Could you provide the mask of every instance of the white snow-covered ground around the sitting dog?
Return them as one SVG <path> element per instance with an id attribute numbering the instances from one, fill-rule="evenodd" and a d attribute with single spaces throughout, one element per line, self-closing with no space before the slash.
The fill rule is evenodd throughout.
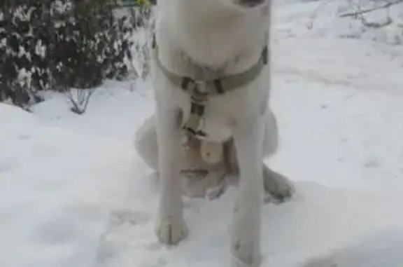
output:
<path id="1" fill-rule="evenodd" d="M 263 266 L 401 267 L 403 47 L 308 32 L 313 10 L 275 9 L 269 164 L 297 195 L 264 205 Z M 234 188 L 186 200 L 181 246 L 155 240 L 155 184 L 132 145 L 153 95 L 131 88 L 107 83 L 82 116 L 54 93 L 32 114 L 0 104 L 1 267 L 228 266 Z"/>

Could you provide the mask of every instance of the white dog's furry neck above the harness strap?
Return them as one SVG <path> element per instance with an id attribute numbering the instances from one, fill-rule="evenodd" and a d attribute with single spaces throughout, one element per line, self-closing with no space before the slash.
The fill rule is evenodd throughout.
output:
<path id="1" fill-rule="evenodd" d="M 211 1 L 159 4 L 156 32 L 162 64 L 201 79 L 238 73 L 255 64 L 267 44 L 269 8 L 240 12 L 203 3 Z"/>

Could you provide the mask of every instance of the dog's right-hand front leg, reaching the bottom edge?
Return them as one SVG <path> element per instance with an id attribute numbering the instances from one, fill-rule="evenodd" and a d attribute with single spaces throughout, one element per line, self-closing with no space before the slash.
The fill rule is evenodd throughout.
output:
<path id="1" fill-rule="evenodd" d="M 234 266 L 260 266 L 262 117 L 238 121 L 232 130 L 239 161 L 239 196 L 232 231 Z"/>

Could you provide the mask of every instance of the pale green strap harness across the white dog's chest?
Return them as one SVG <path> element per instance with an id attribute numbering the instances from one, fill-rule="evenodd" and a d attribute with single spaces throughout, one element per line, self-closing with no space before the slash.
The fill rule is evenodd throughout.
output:
<path id="1" fill-rule="evenodd" d="M 268 64 L 268 47 L 264 46 L 262 54 L 250 69 L 239 74 L 229 74 L 213 80 L 198 80 L 189 76 L 178 76 L 162 65 L 158 59 L 158 47 L 153 35 L 153 53 L 157 66 L 162 70 L 169 81 L 190 94 L 190 116 L 182 125 L 186 137 L 206 137 L 204 127 L 204 111 L 208 97 L 224 95 L 227 92 L 241 88 L 257 78 L 264 65 Z"/>

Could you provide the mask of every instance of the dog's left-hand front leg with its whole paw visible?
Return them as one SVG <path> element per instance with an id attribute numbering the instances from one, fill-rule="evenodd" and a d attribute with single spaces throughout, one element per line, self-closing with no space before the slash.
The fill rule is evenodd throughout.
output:
<path id="1" fill-rule="evenodd" d="M 157 100 L 158 101 L 158 100 Z M 160 242 L 176 245 L 188 234 L 181 195 L 181 129 L 179 111 L 157 103 L 157 143 L 160 169 L 160 203 L 156 235 Z"/>

